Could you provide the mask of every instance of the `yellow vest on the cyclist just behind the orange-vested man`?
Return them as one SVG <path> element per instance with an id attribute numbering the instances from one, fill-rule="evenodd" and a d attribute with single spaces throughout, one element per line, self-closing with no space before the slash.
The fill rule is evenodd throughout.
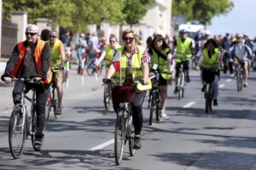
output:
<path id="1" fill-rule="evenodd" d="M 49 43 L 49 41 L 48 41 L 48 43 Z M 56 40 L 54 47 L 52 48 L 52 50 L 50 52 L 50 61 L 49 61 L 50 68 L 54 68 L 58 65 L 61 65 L 60 44 L 61 44 L 61 40 Z"/>

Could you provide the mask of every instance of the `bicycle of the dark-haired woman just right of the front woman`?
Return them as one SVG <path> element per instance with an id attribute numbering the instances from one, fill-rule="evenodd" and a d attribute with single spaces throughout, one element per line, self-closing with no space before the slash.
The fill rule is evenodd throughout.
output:
<path id="1" fill-rule="evenodd" d="M 149 122 L 148 125 L 152 125 L 153 122 L 153 113 L 155 111 L 155 119 L 156 122 L 160 122 L 160 108 L 161 108 L 161 98 L 160 98 L 160 86 L 159 86 L 159 78 L 160 78 L 160 71 L 157 69 L 153 69 L 154 76 L 149 77 L 153 82 L 153 88 L 149 91 L 149 99 L 148 99 L 148 106 L 150 108 L 149 113 Z M 172 72 L 164 72 L 165 74 L 171 74 Z"/>

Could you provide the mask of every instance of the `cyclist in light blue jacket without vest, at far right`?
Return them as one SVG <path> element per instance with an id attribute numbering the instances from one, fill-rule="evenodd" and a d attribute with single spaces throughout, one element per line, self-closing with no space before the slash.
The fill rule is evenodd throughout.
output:
<path id="1" fill-rule="evenodd" d="M 248 57 L 252 56 L 252 50 L 245 44 L 244 37 L 242 34 L 236 35 L 236 44 L 230 48 L 230 54 L 234 58 L 234 65 L 241 65 L 243 75 L 244 75 L 244 84 L 243 86 L 246 88 L 248 86 L 247 78 L 248 78 Z"/>

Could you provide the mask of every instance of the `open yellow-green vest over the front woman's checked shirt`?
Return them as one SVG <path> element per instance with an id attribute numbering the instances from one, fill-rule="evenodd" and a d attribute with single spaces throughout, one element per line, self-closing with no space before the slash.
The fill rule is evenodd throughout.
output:
<path id="1" fill-rule="evenodd" d="M 127 67 L 127 59 L 126 55 L 123 54 L 124 47 L 118 48 L 117 50 L 120 50 L 121 52 L 121 72 L 115 71 L 113 74 L 113 81 L 122 83 L 125 80 L 125 71 Z M 132 67 L 132 78 L 134 82 L 138 82 L 141 78 L 143 78 L 143 63 L 142 63 L 142 57 L 143 52 L 145 51 L 145 48 L 137 45 L 137 54 L 132 55 L 131 59 L 131 67 Z M 121 82 L 120 82 L 121 77 Z"/>

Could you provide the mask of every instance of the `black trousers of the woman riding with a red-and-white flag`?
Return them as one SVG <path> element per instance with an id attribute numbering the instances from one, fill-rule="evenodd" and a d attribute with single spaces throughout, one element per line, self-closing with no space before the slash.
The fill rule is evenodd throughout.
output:
<path id="1" fill-rule="evenodd" d="M 146 91 L 135 94 L 134 101 L 132 103 L 132 116 L 134 124 L 135 135 L 140 135 L 143 128 L 143 102 L 146 96 Z M 113 109 L 117 113 L 119 109 L 119 103 L 113 103 Z"/>

